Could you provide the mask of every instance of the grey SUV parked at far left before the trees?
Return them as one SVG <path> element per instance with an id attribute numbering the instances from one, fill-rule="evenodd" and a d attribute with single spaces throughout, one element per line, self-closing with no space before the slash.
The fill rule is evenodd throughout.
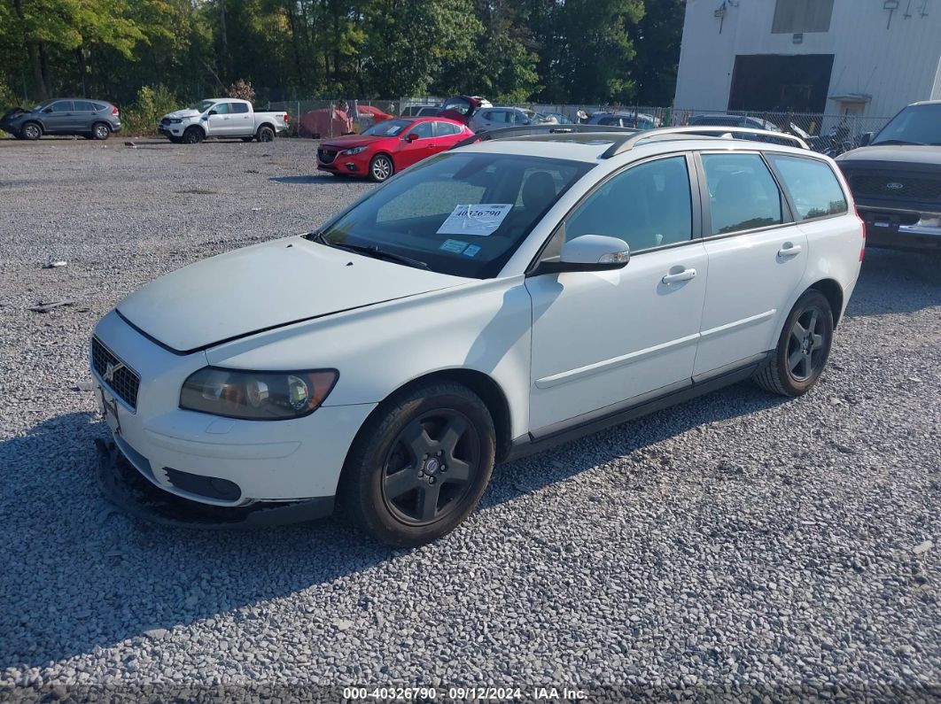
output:
<path id="1" fill-rule="evenodd" d="M 0 120 L 0 130 L 19 139 L 39 139 L 43 134 L 80 134 L 88 139 L 107 139 L 120 132 L 118 108 L 105 101 L 56 98 L 40 102 L 32 110 L 9 111 Z"/>

